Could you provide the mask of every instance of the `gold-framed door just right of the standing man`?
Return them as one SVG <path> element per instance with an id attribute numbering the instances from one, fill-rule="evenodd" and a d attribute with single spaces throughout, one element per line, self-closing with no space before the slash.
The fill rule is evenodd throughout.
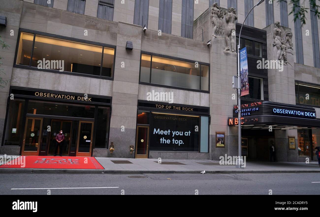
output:
<path id="1" fill-rule="evenodd" d="M 91 157 L 93 125 L 94 121 L 79 121 L 76 156 Z"/>

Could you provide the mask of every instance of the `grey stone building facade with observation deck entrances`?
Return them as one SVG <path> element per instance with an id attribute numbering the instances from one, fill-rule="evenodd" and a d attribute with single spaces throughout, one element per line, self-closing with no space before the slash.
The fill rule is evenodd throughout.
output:
<path id="1" fill-rule="evenodd" d="M 62 130 L 67 156 L 236 156 L 234 51 L 257 2 L 0 0 L 0 154 L 52 155 Z M 278 161 L 313 160 L 320 142 L 319 22 L 308 5 L 302 27 L 291 7 L 263 2 L 241 32 L 250 159 L 273 141 Z"/>

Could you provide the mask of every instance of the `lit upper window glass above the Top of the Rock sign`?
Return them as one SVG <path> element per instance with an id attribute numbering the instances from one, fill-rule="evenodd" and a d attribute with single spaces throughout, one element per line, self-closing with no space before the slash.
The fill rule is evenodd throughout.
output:
<path id="1" fill-rule="evenodd" d="M 140 82 L 208 91 L 209 66 L 142 54 Z"/>

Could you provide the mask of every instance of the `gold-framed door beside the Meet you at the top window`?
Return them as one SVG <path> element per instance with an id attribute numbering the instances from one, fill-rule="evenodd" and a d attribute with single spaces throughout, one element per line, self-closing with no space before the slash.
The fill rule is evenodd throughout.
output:
<path id="1" fill-rule="evenodd" d="M 149 126 L 137 126 L 135 158 L 148 158 Z"/>

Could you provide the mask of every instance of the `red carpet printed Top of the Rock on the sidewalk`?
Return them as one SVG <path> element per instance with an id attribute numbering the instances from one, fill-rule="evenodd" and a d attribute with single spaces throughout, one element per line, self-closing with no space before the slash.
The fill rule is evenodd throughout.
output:
<path id="1" fill-rule="evenodd" d="M 104 169 L 94 157 L 20 156 L 0 168 Z"/>

